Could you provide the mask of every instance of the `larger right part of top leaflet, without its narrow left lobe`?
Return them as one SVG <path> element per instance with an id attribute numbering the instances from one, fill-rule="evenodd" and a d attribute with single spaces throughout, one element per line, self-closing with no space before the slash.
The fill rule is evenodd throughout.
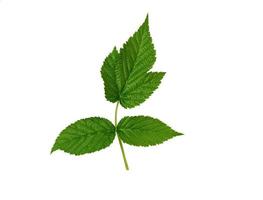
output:
<path id="1" fill-rule="evenodd" d="M 120 49 L 115 68 L 120 104 L 133 108 L 144 102 L 158 87 L 164 73 L 147 73 L 156 60 L 149 31 L 148 15 L 137 32 Z M 143 84 L 143 89 L 141 89 Z"/>

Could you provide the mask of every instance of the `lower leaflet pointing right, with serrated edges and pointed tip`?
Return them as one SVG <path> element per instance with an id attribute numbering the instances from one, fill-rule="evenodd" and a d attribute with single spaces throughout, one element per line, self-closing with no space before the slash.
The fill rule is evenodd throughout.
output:
<path id="1" fill-rule="evenodd" d="M 157 145 L 183 135 L 160 120 L 148 116 L 124 117 L 117 126 L 117 133 L 123 142 L 135 146 Z"/>

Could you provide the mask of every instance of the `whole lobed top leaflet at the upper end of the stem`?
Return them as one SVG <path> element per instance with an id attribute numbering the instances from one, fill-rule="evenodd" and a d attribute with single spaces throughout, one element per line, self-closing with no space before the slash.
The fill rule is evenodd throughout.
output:
<path id="1" fill-rule="evenodd" d="M 119 101 L 124 108 L 143 103 L 157 89 L 165 74 L 148 72 L 156 60 L 155 55 L 147 16 L 120 52 L 114 48 L 104 61 L 101 75 L 106 99 L 113 103 Z"/>

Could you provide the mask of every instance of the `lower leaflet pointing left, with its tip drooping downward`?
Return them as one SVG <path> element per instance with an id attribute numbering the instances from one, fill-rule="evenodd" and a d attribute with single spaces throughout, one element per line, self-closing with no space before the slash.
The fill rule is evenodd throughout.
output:
<path id="1" fill-rule="evenodd" d="M 60 149 L 70 154 L 81 155 L 109 146 L 115 137 L 114 125 L 105 118 L 81 119 L 65 128 L 51 150 Z"/>

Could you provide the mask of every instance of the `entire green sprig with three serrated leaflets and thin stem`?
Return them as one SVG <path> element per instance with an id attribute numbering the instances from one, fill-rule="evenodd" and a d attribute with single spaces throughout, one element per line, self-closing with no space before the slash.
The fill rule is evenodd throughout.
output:
<path id="1" fill-rule="evenodd" d="M 92 153 L 108 147 L 117 134 L 128 170 L 122 141 L 135 146 L 151 146 L 182 135 L 152 117 L 124 117 L 119 123 L 117 121 L 119 103 L 124 108 L 138 106 L 160 85 L 165 73 L 150 72 L 155 60 L 156 53 L 147 16 L 138 31 L 119 51 L 114 47 L 101 68 L 105 97 L 116 103 L 115 125 L 100 117 L 78 120 L 60 133 L 51 152 L 63 150 L 74 155 Z"/>

